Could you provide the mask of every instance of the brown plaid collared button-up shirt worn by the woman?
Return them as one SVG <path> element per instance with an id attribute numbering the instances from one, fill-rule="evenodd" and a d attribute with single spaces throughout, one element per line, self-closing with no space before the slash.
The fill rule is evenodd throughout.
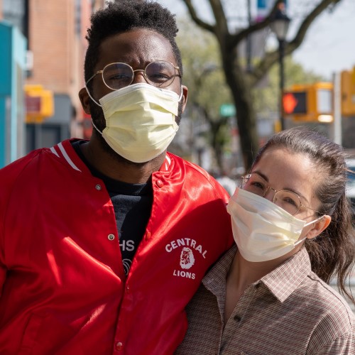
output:
<path id="1" fill-rule="evenodd" d="M 249 285 L 224 324 L 227 251 L 187 306 L 189 328 L 176 354 L 355 354 L 355 316 L 312 273 L 305 248 Z"/>

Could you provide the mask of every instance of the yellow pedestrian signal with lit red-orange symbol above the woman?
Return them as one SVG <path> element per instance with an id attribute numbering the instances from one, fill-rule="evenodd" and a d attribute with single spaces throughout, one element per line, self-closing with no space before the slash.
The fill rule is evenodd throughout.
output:
<path id="1" fill-rule="evenodd" d="M 283 113 L 293 121 L 332 122 L 333 84 L 293 85 L 283 94 Z"/>

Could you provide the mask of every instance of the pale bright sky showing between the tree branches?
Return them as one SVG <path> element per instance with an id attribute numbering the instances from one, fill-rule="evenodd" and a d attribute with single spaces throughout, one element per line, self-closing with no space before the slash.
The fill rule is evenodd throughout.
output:
<path id="1" fill-rule="evenodd" d="M 239 6 L 241 21 L 246 21 L 247 0 L 225 0 L 229 6 Z M 297 26 L 300 23 L 300 7 L 296 9 L 295 3 L 315 4 L 320 0 L 288 0 L 288 16 L 292 19 L 288 40 L 292 39 Z M 184 16 L 185 4 L 182 0 L 158 0 L 173 13 Z M 255 0 L 251 1 L 255 4 Z M 195 0 L 195 4 L 197 1 Z M 205 20 L 211 20 L 209 4 L 207 0 L 199 0 L 201 16 Z M 229 11 L 227 11 L 227 14 Z M 294 18 L 293 18 L 294 16 Z M 355 0 L 342 0 L 341 3 L 330 13 L 324 11 L 318 16 L 307 32 L 307 36 L 300 48 L 293 53 L 293 59 L 299 62 L 306 70 L 322 75 L 331 80 L 335 72 L 351 70 L 355 67 Z"/>

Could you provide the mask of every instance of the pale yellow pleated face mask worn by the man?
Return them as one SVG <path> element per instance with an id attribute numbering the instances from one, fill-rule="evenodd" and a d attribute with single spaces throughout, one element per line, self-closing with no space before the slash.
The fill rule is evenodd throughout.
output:
<path id="1" fill-rule="evenodd" d="M 163 153 L 173 141 L 179 128 L 175 117 L 181 97 L 182 90 L 179 97 L 149 84 L 132 84 L 99 100 L 105 129 L 99 131 L 92 124 L 117 154 L 144 163 Z"/>

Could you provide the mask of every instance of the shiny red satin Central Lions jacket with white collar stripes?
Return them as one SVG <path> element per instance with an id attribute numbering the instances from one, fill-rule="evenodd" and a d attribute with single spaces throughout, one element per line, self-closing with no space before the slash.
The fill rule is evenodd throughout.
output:
<path id="1" fill-rule="evenodd" d="M 167 154 L 127 277 L 108 192 L 69 140 L 0 182 L 0 354 L 173 353 L 185 305 L 233 241 L 213 178 Z"/>

